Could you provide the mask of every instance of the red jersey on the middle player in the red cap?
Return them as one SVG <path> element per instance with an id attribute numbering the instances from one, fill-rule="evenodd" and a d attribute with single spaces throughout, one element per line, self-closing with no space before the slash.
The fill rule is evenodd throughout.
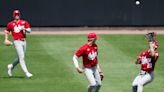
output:
<path id="1" fill-rule="evenodd" d="M 89 46 L 88 44 L 84 44 L 79 50 L 76 51 L 75 55 L 77 57 L 82 56 L 83 58 L 83 66 L 84 67 L 94 67 L 97 65 L 97 45 L 93 44 Z"/>

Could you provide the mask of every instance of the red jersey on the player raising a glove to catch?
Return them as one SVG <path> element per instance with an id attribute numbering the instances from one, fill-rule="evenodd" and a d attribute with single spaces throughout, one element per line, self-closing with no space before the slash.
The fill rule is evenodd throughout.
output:
<path id="1" fill-rule="evenodd" d="M 139 55 L 139 60 L 141 64 L 141 70 L 151 72 L 154 71 L 155 68 L 155 63 L 159 57 L 159 53 L 155 52 L 157 55 L 157 58 L 155 59 L 154 57 L 151 56 L 150 52 L 148 50 L 144 50 L 140 53 Z"/>

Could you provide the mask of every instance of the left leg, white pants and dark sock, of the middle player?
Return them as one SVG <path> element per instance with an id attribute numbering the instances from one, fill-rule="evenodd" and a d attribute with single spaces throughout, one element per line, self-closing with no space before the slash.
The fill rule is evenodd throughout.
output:
<path id="1" fill-rule="evenodd" d="M 93 71 L 91 68 L 85 68 L 85 76 L 89 82 L 88 92 L 95 92 L 96 90 L 96 80 L 93 76 Z"/>

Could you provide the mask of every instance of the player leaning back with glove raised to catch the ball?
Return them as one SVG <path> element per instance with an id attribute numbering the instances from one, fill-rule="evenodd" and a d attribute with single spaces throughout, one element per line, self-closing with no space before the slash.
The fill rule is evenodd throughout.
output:
<path id="1" fill-rule="evenodd" d="M 156 51 L 158 41 L 155 40 L 154 32 L 148 33 L 146 37 L 149 40 L 149 49 L 142 51 L 136 60 L 136 64 L 141 64 L 141 71 L 132 83 L 133 92 L 143 92 L 143 86 L 154 79 L 153 71 L 159 57 L 159 53 Z"/>

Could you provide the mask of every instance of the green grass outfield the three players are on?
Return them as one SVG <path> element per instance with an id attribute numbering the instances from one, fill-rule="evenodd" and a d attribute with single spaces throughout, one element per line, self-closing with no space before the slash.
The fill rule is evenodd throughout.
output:
<path id="1" fill-rule="evenodd" d="M 144 92 L 164 91 L 164 35 L 158 35 L 160 58 L 155 80 Z M 24 76 L 18 65 L 13 77 L 7 75 L 7 64 L 16 57 L 14 46 L 7 47 L 0 35 L 0 92 L 86 92 L 87 80 L 78 74 L 72 56 L 86 42 L 86 35 L 28 35 L 26 63 L 34 77 Z M 148 48 L 143 35 L 101 35 L 99 63 L 105 79 L 101 92 L 131 92 L 131 83 L 140 66 L 136 56 Z M 81 63 L 81 60 L 80 60 Z"/>

